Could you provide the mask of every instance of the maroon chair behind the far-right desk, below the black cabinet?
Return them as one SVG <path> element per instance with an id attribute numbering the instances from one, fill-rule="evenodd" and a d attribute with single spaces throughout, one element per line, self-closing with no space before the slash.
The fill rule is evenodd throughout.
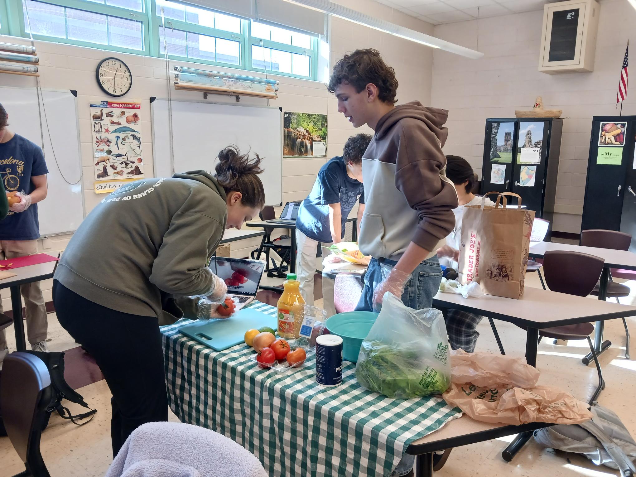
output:
<path id="1" fill-rule="evenodd" d="M 583 230 L 581 231 L 581 245 L 584 247 L 597 247 L 599 249 L 612 250 L 628 250 L 632 244 L 632 235 L 624 232 L 616 232 L 616 230 Z M 636 280 L 636 271 L 634 270 L 618 270 L 612 268 L 609 275 L 610 282 L 607 284 L 607 298 L 614 298 L 616 303 L 620 303 L 619 298 L 630 296 L 630 287 L 621 283 L 612 282 L 612 277 L 627 280 Z M 594 287 L 591 294 L 598 296 L 598 287 Z M 630 329 L 627 321 L 623 318 L 623 326 L 625 326 L 625 358 L 630 359 Z"/>

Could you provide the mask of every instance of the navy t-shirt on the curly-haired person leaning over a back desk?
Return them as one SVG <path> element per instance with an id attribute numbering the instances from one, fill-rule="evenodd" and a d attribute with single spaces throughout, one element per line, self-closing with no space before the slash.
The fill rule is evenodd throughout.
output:
<path id="1" fill-rule="evenodd" d="M 298 210 L 296 228 L 310 239 L 331 242 L 329 231 L 329 205 L 340 202 L 342 212 L 342 237 L 345 236 L 345 221 L 360 198 L 364 204 L 364 187 L 347 174 L 347 165 L 342 156 L 337 156 L 321 167 L 309 196 Z M 341 238 L 342 238 L 341 237 Z"/>

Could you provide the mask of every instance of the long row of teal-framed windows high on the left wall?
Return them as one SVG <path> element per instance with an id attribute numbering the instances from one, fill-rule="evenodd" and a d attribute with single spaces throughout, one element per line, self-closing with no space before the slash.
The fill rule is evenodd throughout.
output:
<path id="1" fill-rule="evenodd" d="M 317 69 L 314 36 L 174 0 L 0 0 L 0 34 L 305 79 Z"/>

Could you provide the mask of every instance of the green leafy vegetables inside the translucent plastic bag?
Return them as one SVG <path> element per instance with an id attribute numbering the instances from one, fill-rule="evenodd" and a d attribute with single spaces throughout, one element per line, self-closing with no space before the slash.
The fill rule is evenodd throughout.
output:
<path id="1" fill-rule="evenodd" d="M 450 376 L 423 362 L 413 350 L 364 341 L 361 352 L 356 378 L 370 391 L 408 399 L 441 394 L 450 386 Z"/>

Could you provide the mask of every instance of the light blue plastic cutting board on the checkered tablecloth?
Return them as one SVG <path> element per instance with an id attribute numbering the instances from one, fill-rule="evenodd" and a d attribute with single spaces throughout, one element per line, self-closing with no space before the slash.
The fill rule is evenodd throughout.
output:
<path id="1" fill-rule="evenodd" d="M 179 328 L 179 331 L 215 351 L 223 351 L 245 341 L 245 331 L 269 326 L 278 329 L 278 320 L 272 315 L 243 308 L 230 318 L 195 321 Z"/>

